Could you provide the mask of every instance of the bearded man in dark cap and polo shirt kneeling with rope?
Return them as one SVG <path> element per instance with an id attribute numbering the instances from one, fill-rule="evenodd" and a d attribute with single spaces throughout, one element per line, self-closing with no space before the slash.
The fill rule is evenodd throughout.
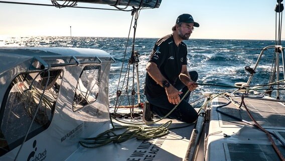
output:
<path id="1" fill-rule="evenodd" d="M 183 122 L 195 122 L 198 115 L 188 103 L 190 92 L 197 88 L 198 73 L 187 70 L 187 47 L 183 40 L 188 40 L 194 27 L 199 27 L 189 14 L 180 15 L 173 33 L 159 39 L 147 64 L 145 94 L 149 104 L 144 107 L 145 122 L 153 121 L 152 112 L 160 117 L 166 116 L 180 101 L 177 108 L 168 116 Z"/>

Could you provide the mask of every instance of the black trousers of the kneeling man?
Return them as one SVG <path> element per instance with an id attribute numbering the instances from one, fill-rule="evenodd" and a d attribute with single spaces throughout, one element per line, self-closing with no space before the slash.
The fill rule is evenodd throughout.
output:
<path id="1" fill-rule="evenodd" d="M 198 79 L 198 73 L 197 71 L 189 71 L 189 75 L 192 79 L 192 81 L 196 82 Z M 184 94 L 188 91 L 187 86 L 185 86 L 180 79 L 177 81 L 177 83 L 174 85 L 174 87 L 182 91 L 183 94 L 181 94 L 180 98 L 184 96 Z M 188 103 L 190 98 L 190 93 L 180 102 L 180 104 L 177 106 L 177 108 L 167 117 L 170 119 L 177 119 L 186 123 L 192 123 L 195 122 L 198 114 L 196 110 Z M 160 117 L 166 116 L 176 105 L 171 104 L 168 101 L 167 95 L 162 95 L 157 98 L 150 98 L 148 96 L 147 100 L 151 104 L 151 110 L 153 113 L 156 113 Z"/>

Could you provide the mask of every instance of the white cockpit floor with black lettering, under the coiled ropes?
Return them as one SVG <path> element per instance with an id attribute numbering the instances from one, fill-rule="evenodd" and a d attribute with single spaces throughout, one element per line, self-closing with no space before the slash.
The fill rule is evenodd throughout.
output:
<path id="1" fill-rule="evenodd" d="M 118 110 L 118 113 L 125 112 L 129 112 L 129 110 Z M 125 118 L 120 120 L 131 121 L 131 119 Z M 162 121 L 149 126 L 160 126 L 169 120 L 170 119 L 163 119 Z M 113 121 L 115 125 L 123 124 L 115 120 Z M 142 119 L 135 121 L 142 123 Z M 172 120 L 172 124 L 169 128 L 181 127 L 185 125 L 189 124 Z M 171 129 L 168 135 L 147 141 L 132 138 L 122 143 L 110 143 L 98 148 L 84 148 L 81 146 L 67 160 L 184 160 L 193 127 L 194 125 L 184 128 Z M 94 136 L 105 130 L 107 130 L 107 128 L 97 131 Z"/>

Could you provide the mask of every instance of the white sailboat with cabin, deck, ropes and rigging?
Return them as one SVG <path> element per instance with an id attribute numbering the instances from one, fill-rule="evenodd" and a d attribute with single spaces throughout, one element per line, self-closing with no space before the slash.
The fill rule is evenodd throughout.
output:
<path id="1" fill-rule="evenodd" d="M 281 2 L 275 8 L 279 16 Z M 76 8 L 77 3 L 132 7 L 135 15 L 163 2 L 78 0 L 44 6 Z M 281 28 L 280 21 L 276 26 Z M 284 160 L 280 32 L 274 45 L 262 49 L 255 66 L 245 67 L 247 82 L 236 83 L 232 93 L 203 93 L 195 124 L 168 118 L 145 123 L 139 90 L 132 92 L 137 100 L 126 106 L 120 105 L 118 90 L 116 106 L 110 108 L 109 72 L 115 60 L 103 50 L 1 47 L 0 160 Z M 251 85 L 267 49 L 275 56 L 269 83 Z M 137 56 L 132 49 L 133 69 Z"/>

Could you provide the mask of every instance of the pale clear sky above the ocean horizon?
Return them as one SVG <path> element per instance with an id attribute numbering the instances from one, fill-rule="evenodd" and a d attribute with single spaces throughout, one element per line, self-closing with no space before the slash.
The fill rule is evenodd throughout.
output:
<path id="1" fill-rule="evenodd" d="M 49 0 L 18 2 L 51 4 Z M 158 9 L 140 11 L 136 37 L 170 34 L 177 17 L 188 13 L 200 24 L 190 37 L 193 39 L 275 40 L 276 4 L 276 0 L 162 0 Z M 85 3 L 78 6 L 114 9 Z M 70 36 L 70 26 L 72 36 L 127 37 L 131 18 L 130 12 L 123 11 L 0 3 L 0 38 Z M 285 40 L 285 34 L 281 38 Z"/>

